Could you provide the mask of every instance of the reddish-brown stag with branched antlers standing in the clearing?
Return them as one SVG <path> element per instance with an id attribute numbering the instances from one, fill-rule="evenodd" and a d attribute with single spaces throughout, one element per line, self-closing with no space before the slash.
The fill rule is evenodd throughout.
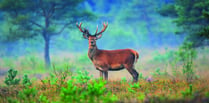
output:
<path id="1" fill-rule="evenodd" d="M 91 35 L 87 29 L 82 29 L 80 23 L 76 23 L 79 30 L 83 33 L 83 37 L 89 40 L 88 57 L 93 62 L 97 70 L 100 71 L 100 77 L 108 79 L 108 70 L 117 71 L 126 68 L 133 76 L 133 82 L 138 81 L 138 72 L 134 69 L 134 63 L 139 58 L 139 54 L 132 49 L 119 49 L 119 50 L 101 50 L 96 46 L 96 40 L 102 37 L 102 33 L 106 30 L 108 23 L 103 23 L 104 28 L 97 33 Z"/>

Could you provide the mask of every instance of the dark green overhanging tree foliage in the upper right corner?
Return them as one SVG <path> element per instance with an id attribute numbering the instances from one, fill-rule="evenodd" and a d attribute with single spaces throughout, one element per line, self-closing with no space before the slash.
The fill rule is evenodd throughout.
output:
<path id="1" fill-rule="evenodd" d="M 166 4 L 167 5 L 167 4 Z M 175 23 L 182 27 L 181 34 L 187 34 L 186 41 L 193 46 L 208 45 L 209 40 L 209 1 L 208 0 L 175 0 L 175 3 L 164 6 L 159 13 L 163 16 L 175 15 Z"/>

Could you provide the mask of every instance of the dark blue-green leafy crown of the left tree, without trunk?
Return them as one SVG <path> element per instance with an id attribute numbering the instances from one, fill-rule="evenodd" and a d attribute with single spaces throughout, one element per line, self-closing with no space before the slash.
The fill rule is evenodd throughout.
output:
<path id="1" fill-rule="evenodd" d="M 49 19 L 52 21 L 56 21 L 56 22 L 48 21 L 50 22 L 50 24 L 46 26 L 46 31 L 47 33 L 49 33 L 48 35 L 53 35 L 53 32 L 57 31 L 55 27 L 57 27 L 57 25 L 60 25 L 58 21 L 62 22 L 63 19 L 66 19 L 67 21 L 72 21 L 72 19 L 77 19 L 74 16 L 87 16 L 88 17 L 91 15 L 91 14 L 87 14 L 88 11 L 82 10 L 83 8 L 79 7 L 79 5 L 83 2 L 83 0 L 76 0 L 76 1 L 75 0 L 65 0 L 65 1 L 16 0 L 15 3 L 12 3 L 12 2 L 14 1 L 2 0 L 0 2 L 1 4 L 0 9 L 4 11 L 5 14 L 7 14 L 6 15 L 7 18 L 9 18 L 9 21 L 12 21 L 11 23 L 16 28 L 21 28 L 26 31 L 33 30 L 34 33 L 39 32 L 40 30 L 43 30 L 42 27 L 44 27 L 44 25 L 41 23 L 43 21 L 42 19 L 47 19 L 47 20 Z M 71 6 L 68 7 L 66 5 L 71 5 Z M 38 12 L 38 11 L 41 11 L 41 12 Z M 37 15 L 33 15 L 33 13 Z M 18 25 L 22 27 L 19 27 Z M 17 29 L 17 30 L 21 30 L 21 29 Z M 26 33 L 26 34 L 30 35 L 30 33 Z M 23 34 L 17 34 L 17 35 L 21 35 L 20 38 L 24 36 Z M 15 38 L 17 35 L 14 35 L 12 37 Z M 31 36 L 28 36 L 28 37 L 31 38 Z"/>

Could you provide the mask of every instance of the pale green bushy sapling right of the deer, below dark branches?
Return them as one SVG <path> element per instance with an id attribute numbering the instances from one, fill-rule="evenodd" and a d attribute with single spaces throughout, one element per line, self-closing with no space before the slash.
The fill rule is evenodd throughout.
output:
<path id="1" fill-rule="evenodd" d="M 177 77 L 181 73 L 185 76 L 187 82 L 191 82 L 196 79 L 194 60 L 197 58 L 197 51 L 193 47 L 192 42 L 184 42 L 178 50 L 167 51 L 165 54 L 157 54 L 154 56 L 154 61 L 163 63 L 164 65 L 170 65 L 172 75 Z M 153 76 L 159 77 L 160 75 L 167 75 L 167 71 L 161 72 L 160 68 L 157 68 L 155 72 L 152 72 Z"/>

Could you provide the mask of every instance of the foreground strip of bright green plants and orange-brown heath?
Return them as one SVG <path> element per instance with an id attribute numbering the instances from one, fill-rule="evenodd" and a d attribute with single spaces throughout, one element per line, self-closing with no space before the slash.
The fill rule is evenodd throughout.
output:
<path id="1" fill-rule="evenodd" d="M 139 83 L 131 84 L 128 81 L 106 82 L 102 79 L 91 78 L 87 85 L 83 85 L 78 84 L 77 80 L 69 79 L 61 86 L 61 89 L 56 88 L 56 84 L 39 84 L 38 82 L 24 88 L 17 85 L 17 94 L 15 94 L 14 88 L 10 88 L 12 89 L 9 91 L 11 94 L 5 94 L 4 97 L 0 92 L 0 99 L 4 103 L 152 103 L 156 101 L 185 102 L 194 100 L 193 98 L 196 98 L 196 102 L 203 102 L 204 97 L 208 97 L 207 88 L 205 88 L 206 91 L 201 91 L 201 88 L 207 87 L 208 84 L 202 83 L 200 80 L 189 85 L 182 80 L 174 84 L 170 79 L 159 79 L 152 83 L 141 80 Z M 200 83 L 202 84 L 199 85 Z M 195 91 L 199 91 L 199 93 L 197 94 Z"/>

